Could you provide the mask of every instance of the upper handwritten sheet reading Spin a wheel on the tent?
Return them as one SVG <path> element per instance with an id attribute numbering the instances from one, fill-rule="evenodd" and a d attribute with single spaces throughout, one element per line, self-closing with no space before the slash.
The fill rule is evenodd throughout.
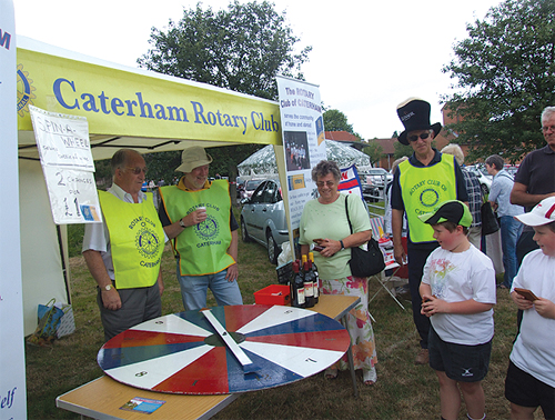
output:
<path id="1" fill-rule="evenodd" d="M 94 172 L 87 118 L 29 110 L 42 166 Z"/>

